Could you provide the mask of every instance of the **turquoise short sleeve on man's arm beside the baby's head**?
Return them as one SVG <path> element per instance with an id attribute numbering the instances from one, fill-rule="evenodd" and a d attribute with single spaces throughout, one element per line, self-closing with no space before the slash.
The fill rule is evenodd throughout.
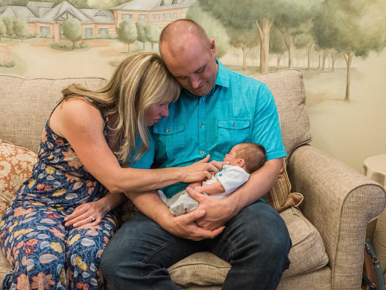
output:
<path id="1" fill-rule="evenodd" d="M 265 84 L 261 85 L 257 93 L 251 142 L 264 146 L 267 160 L 287 155 L 281 136 L 276 103 Z"/>

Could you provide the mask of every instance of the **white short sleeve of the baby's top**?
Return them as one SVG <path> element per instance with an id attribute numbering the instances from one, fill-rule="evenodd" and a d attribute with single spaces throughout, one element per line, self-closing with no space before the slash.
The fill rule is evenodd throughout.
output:
<path id="1" fill-rule="evenodd" d="M 224 166 L 225 169 L 222 170 L 222 175 L 218 175 L 217 179 L 220 181 L 222 186 L 225 189 L 225 193 L 232 193 L 242 184 L 244 184 L 248 178 L 249 173 L 239 166 Z"/>

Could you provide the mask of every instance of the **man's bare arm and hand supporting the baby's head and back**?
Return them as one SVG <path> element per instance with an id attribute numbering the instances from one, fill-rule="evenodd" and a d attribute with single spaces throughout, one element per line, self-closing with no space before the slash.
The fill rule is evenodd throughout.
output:
<path id="1" fill-rule="evenodd" d="M 248 181 L 223 200 L 211 198 L 186 188 L 188 194 L 198 201 L 197 210 L 205 210 L 207 214 L 196 220 L 203 229 L 217 229 L 235 217 L 240 210 L 259 200 L 272 188 L 278 180 L 281 168 L 281 158 L 268 160 L 257 171 L 253 172 Z M 224 214 L 226 213 L 226 214 Z"/>

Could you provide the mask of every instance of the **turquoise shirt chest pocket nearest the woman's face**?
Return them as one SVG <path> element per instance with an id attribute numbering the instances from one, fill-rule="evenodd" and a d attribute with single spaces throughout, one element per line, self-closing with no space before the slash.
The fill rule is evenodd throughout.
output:
<path id="1" fill-rule="evenodd" d="M 185 156 L 185 125 L 153 126 L 154 142 L 157 148 L 157 158 L 174 160 Z"/>

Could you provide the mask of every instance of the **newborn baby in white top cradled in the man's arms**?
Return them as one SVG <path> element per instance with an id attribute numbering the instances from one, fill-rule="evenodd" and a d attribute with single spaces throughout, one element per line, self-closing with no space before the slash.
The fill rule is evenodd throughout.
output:
<path id="1" fill-rule="evenodd" d="M 225 155 L 224 161 L 229 161 L 229 165 L 223 165 L 222 171 L 212 174 L 212 178 L 193 182 L 189 187 L 214 198 L 226 198 L 244 184 L 250 174 L 264 164 L 266 158 L 265 148 L 260 144 L 237 144 Z M 171 198 L 166 198 L 161 190 L 158 194 L 176 216 L 191 212 L 198 207 L 198 201 L 191 198 L 185 190 Z"/>

